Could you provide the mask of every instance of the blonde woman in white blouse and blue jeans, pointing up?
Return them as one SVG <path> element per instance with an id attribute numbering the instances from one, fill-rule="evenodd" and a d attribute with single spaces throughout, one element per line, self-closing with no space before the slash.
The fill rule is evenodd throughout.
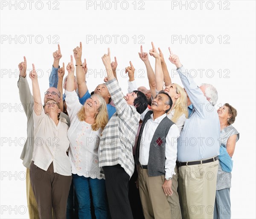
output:
<path id="1" fill-rule="evenodd" d="M 78 66 L 78 68 L 81 66 Z M 108 123 L 105 100 L 97 94 L 91 95 L 84 105 L 74 89 L 73 57 L 67 65 L 66 104 L 70 116 L 69 157 L 73 183 L 79 205 L 79 218 L 90 219 L 90 189 L 96 218 L 109 218 L 104 175 L 100 173 L 98 147 L 102 130 Z"/>

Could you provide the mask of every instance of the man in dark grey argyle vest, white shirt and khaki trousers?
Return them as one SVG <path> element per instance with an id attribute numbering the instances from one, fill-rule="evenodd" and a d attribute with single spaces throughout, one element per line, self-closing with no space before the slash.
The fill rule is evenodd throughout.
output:
<path id="1" fill-rule="evenodd" d="M 172 176 L 180 133 L 166 116 L 171 108 L 172 98 L 160 91 L 152 101 L 152 110 L 146 109 L 142 114 L 135 161 L 139 166 L 140 199 L 147 219 L 172 218 L 168 196 L 173 194 Z"/>

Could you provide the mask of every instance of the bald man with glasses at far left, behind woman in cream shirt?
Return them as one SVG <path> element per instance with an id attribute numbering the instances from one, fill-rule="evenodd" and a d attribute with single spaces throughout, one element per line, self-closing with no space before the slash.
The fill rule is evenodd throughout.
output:
<path id="1" fill-rule="evenodd" d="M 32 153 L 34 149 L 34 120 L 33 120 L 33 106 L 34 106 L 34 99 L 29 89 L 29 84 L 26 79 L 26 57 L 24 56 L 24 61 L 19 63 L 18 65 L 20 71 L 20 77 L 18 80 L 18 88 L 19 88 L 19 95 L 20 101 L 23 104 L 24 111 L 27 117 L 27 139 L 24 144 L 22 153 L 20 158 L 23 160 L 23 165 L 27 168 L 26 169 L 26 193 L 27 193 L 27 203 L 29 207 L 29 218 L 31 219 L 38 219 L 38 209 L 35 195 L 33 193 L 30 177 L 29 177 L 29 167 L 31 164 Z M 44 93 L 44 103 L 47 99 L 54 99 L 56 102 L 60 103 L 61 101 L 61 94 L 55 87 L 50 87 Z M 66 118 L 68 121 L 68 125 L 70 125 L 70 119 L 67 115 L 61 112 L 61 117 Z"/>

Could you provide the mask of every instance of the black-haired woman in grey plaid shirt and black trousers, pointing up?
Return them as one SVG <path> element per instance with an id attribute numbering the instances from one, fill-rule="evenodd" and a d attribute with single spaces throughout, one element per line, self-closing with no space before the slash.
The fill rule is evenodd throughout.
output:
<path id="1" fill-rule="evenodd" d="M 126 96 L 122 94 L 111 69 L 109 49 L 108 55 L 105 54 L 102 61 L 108 75 L 106 85 L 116 106 L 116 112 L 108 121 L 100 138 L 99 166 L 103 167 L 105 174 L 111 218 L 132 219 L 128 199 L 128 183 L 134 172 L 132 147 L 139 127 L 140 114 L 148 104 L 143 92 L 134 91 Z"/>

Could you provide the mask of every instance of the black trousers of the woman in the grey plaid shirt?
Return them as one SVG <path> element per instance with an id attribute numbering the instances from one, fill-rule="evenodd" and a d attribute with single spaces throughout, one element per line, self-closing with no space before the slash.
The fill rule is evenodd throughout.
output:
<path id="1" fill-rule="evenodd" d="M 112 219 L 133 219 L 128 198 L 130 176 L 119 165 L 103 167 Z"/>

